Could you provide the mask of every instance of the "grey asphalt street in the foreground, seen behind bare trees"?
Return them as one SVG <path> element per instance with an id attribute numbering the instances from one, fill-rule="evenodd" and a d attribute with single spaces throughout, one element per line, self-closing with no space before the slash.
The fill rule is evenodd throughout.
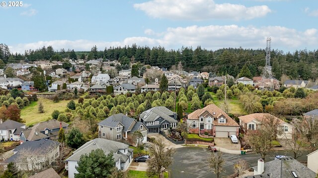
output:
<path id="1" fill-rule="evenodd" d="M 210 152 L 204 147 L 184 147 L 176 149 L 176 154 L 174 156 L 174 163 L 170 166 L 171 177 L 172 178 L 215 178 L 216 176 L 210 172 L 207 158 Z M 292 156 L 292 154 L 286 151 L 271 152 L 266 156 L 265 161 L 271 161 L 274 159 L 275 155 L 287 155 Z M 307 161 L 307 153 L 300 158 L 298 161 Z M 260 158 L 259 155 L 249 153 L 246 155 L 235 155 L 235 154 L 223 154 L 226 160 L 224 169 L 226 173 L 222 176 L 229 176 L 234 174 L 233 165 L 239 160 L 244 159 L 249 167 L 257 165 L 257 159 Z"/>

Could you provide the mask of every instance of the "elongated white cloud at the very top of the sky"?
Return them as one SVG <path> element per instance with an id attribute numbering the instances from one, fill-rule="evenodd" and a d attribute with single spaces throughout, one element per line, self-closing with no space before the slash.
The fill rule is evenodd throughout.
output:
<path id="1" fill-rule="evenodd" d="M 253 19 L 271 12 L 268 6 L 246 7 L 240 4 L 221 3 L 213 0 L 150 0 L 134 4 L 154 18 L 174 20 Z"/>

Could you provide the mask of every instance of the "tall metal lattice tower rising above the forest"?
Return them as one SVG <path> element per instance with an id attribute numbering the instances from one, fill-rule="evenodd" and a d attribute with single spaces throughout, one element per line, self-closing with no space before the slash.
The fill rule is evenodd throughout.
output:
<path id="1" fill-rule="evenodd" d="M 271 38 L 269 37 L 266 40 L 266 63 L 261 82 L 262 92 L 264 91 L 264 89 L 268 89 L 270 91 L 274 90 L 272 67 L 270 66 L 270 43 Z M 265 86 L 266 83 L 268 84 L 267 86 Z"/>

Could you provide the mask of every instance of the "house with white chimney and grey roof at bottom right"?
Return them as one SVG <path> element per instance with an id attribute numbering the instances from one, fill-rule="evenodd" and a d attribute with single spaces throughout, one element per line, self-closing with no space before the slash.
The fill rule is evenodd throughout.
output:
<path id="1" fill-rule="evenodd" d="M 244 178 L 315 178 L 316 173 L 292 157 L 264 162 L 257 160 L 254 174 Z"/>

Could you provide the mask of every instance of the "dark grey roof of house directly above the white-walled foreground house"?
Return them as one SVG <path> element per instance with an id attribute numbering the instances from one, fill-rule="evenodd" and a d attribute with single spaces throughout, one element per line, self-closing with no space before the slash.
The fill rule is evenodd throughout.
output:
<path id="1" fill-rule="evenodd" d="M 128 131 L 135 119 L 130 118 L 122 113 L 114 114 L 102 120 L 98 125 L 115 128 L 119 123 L 124 126 L 123 131 Z"/>

